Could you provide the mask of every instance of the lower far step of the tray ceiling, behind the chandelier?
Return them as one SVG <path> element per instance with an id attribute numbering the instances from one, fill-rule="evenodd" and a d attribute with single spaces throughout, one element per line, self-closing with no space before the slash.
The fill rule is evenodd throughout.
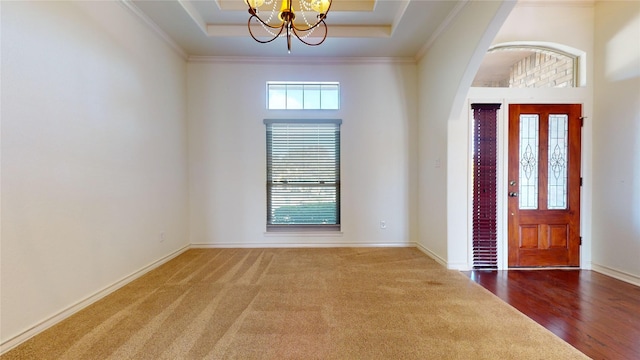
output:
<path id="1" fill-rule="evenodd" d="M 262 30 L 260 25 L 252 25 L 255 33 Z M 328 37 L 332 38 L 388 38 L 390 25 L 331 25 Z M 264 30 L 262 30 L 264 31 Z M 210 37 L 247 37 L 246 25 L 207 25 L 206 34 Z M 309 37 L 322 37 L 324 31 L 311 33 Z"/>

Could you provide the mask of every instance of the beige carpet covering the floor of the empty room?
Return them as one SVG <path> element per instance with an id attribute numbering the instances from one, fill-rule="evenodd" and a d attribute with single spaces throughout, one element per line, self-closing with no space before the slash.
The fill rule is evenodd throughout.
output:
<path id="1" fill-rule="evenodd" d="M 583 359 L 413 248 L 189 250 L 1 357 Z"/>

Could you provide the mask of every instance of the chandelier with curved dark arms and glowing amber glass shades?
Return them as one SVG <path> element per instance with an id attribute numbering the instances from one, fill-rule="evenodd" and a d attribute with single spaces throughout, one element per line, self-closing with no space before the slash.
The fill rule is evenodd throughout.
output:
<path id="1" fill-rule="evenodd" d="M 332 0 L 280 0 L 280 11 L 276 11 L 278 0 L 245 0 L 249 5 L 249 21 L 247 27 L 251 37 L 262 44 L 272 42 L 279 37 L 287 38 L 287 50 L 291 52 L 291 37 L 295 36 L 304 44 L 318 46 L 327 38 L 327 18 Z M 297 4 L 294 10 L 293 2 Z M 259 9 L 264 6 L 266 18 L 260 17 Z M 270 9 L 269 9 L 270 8 Z M 299 10 L 299 18 L 296 12 Z M 295 22 L 294 22 L 295 20 Z M 264 29 L 263 35 L 254 34 L 252 26 L 261 26 Z M 314 32 L 315 34 L 311 36 Z M 320 38 L 319 41 L 312 41 L 309 38 Z"/>

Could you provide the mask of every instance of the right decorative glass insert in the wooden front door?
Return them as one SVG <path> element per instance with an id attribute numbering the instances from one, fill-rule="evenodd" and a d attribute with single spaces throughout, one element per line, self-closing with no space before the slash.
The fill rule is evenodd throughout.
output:
<path id="1" fill-rule="evenodd" d="M 567 142 L 569 117 L 549 115 L 549 172 L 547 208 L 567 208 Z"/>

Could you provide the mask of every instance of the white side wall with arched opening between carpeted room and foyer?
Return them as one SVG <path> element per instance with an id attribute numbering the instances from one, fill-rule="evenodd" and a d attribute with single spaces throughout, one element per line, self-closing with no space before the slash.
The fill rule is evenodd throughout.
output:
<path id="1" fill-rule="evenodd" d="M 459 118 L 460 108 L 491 39 L 511 11 L 514 2 L 475 1 L 465 5 L 436 39 L 418 64 L 418 224 L 419 244 L 450 268 L 463 260 L 450 250 L 456 232 L 465 221 L 449 213 L 465 199 L 464 178 L 448 175 L 458 158 L 448 154 L 449 121 Z M 466 263 L 466 260 L 464 260 Z"/>

